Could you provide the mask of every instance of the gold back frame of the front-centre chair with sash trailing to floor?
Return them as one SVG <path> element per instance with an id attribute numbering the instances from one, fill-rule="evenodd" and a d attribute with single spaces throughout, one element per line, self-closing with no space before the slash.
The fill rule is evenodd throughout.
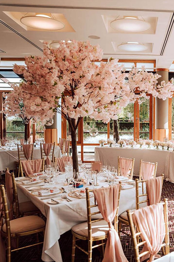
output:
<path id="1" fill-rule="evenodd" d="M 121 192 L 121 182 L 120 183 L 120 188 L 119 188 L 119 195 L 118 195 L 118 206 L 116 210 L 116 216 L 114 218 L 114 228 L 118 232 L 118 209 L 119 209 L 119 201 L 120 201 L 120 192 Z M 88 240 L 92 239 L 92 230 L 91 230 L 91 225 L 94 222 L 104 220 L 104 218 L 100 219 L 93 219 L 92 216 L 101 214 L 100 211 L 97 212 L 91 212 L 91 208 L 95 208 L 98 206 L 96 203 L 96 198 L 94 197 L 94 204 L 90 204 L 90 192 L 93 192 L 93 189 L 86 188 L 86 206 L 87 206 L 87 222 L 88 222 Z"/>

